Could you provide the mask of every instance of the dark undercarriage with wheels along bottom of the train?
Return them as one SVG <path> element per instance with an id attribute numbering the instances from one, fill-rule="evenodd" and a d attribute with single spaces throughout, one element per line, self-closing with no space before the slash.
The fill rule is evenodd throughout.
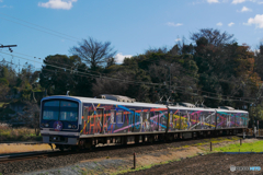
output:
<path id="1" fill-rule="evenodd" d="M 193 131 L 178 131 L 178 132 L 158 132 L 145 135 L 104 135 L 104 136 L 81 136 L 77 139 L 77 144 L 65 144 L 62 142 L 49 142 L 55 144 L 56 149 L 64 150 L 92 150 L 95 147 L 116 145 L 116 144 L 138 144 L 138 143 L 153 143 L 153 142 L 172 142 L 184 139 L 202 139 L 214 138 L 220 136 L 235 136 L 243 133 L 244 128 L 231 128 L 220 130 L 193 130 Z"/>

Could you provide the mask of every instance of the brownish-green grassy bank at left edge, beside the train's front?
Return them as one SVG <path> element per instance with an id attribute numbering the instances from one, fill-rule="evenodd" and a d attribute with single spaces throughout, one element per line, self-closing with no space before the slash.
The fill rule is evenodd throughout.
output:
<path id="1" fill-rule="evenodd" d="M 12 128 L 0 124 L 0 142 L 7 141 L 41 141 L 42 136 L 36 136 L 34 129 Z"/>

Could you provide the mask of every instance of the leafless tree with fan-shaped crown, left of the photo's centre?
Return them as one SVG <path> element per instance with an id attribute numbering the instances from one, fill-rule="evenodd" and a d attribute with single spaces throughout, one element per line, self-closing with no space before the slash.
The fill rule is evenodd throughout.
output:
<path id="1" fill-rule="evenodd" d="M 91 69 L 96 69 L 100 66 L 105 66 L 110 58 L 116 51 L 111 47 L 111 42 L 98 42 L 92 37 L 83 39 L 78 47 L 72 47 L 70 52 L 79 56 L 83 61 L 90 65 Z"/>

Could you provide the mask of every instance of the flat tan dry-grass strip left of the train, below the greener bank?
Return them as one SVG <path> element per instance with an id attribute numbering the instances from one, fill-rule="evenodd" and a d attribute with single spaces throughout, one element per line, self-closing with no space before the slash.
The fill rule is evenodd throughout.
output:
<path id="1" fill-rule="evenodd" d="M 55 148 L 55 145 L 53 145 Z M 0 144 L 0 154 L 52 150 L 48 144 Z"/>

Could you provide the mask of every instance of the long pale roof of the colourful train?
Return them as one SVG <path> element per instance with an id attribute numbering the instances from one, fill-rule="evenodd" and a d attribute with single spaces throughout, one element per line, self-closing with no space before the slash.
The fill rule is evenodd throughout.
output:
<path id="1" fill-rule="evenodd" d="M 80 103 L 101 103 L 101 104 L 113 104 L 113 105 L 127 105 L 127 106 L 145 106 L 145 107 L 160 107 L 167 108 L 167 105 L 163 104 L 152 104 L 152 103 L 142 103 L 142 102 L 117 102 L 112 100 L 104 98 L 92 98 L 92 97 L 81 97 L 81 96 L 68 96 L 68 95 L 54 95 L 44 97 L 42 101 L 46 100 L 71 100 Z M 222 109 L 222 108 L 204 108 L 204 107 L 185 107 L 185 106 L 168 106 L 171 109 L 186 109 L 186 110 L 205 110 L 205 112 L 226 112 L 226 113 L 248 113 L 245 110 L 240 109 Z"/>

